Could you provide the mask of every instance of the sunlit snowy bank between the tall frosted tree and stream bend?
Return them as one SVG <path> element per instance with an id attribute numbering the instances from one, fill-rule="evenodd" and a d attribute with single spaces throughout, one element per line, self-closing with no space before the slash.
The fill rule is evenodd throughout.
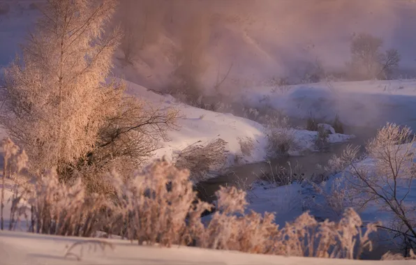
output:
<path id="1" fill-rule="evenodd" d="M 172 159 L 174 152 L 180 151 L 186 146 L 198 141 L 207 143 L 213 139 L 221 138 L 227 142 L 228 167 L 236 163 L 235 156 L 239 156 L 239 165 L 260 162 L 267 157 L 267 133 L 268 130 L 260 123 L 244 119 L 232 114 L 211 112 L 205 109 L 191 107 L 169 95 L 161 95 L 145 89 L 143 86 L 127 83 L 127 93 L 136 96 L 155 107 L 174 107 L 179 109 L 184 118 L 179 119 L 179 130 L 170 130 L 170 141 L 162 142 L 162 148 L 156 151 L 154 158 L 165 156 Z M 297 147 L 289 153 L 297 156 L 304 151 L 315 151 L 315 139 L 318 132 L 309 130 L 290 130 L 296 139 Z M 353 135 L 332 134 L 328 137 L 329 143 L 347 142 Z M 254 148 L 251 156 L 246 156 L 241 151 L 239 139 L 253 139 Z"/>

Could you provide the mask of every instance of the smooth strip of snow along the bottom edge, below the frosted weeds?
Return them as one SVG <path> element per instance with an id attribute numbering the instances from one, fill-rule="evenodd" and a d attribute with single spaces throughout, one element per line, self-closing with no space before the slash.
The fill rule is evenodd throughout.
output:
<path id="1" fill-rule="evenodd" d="M 343 264 L 414 264 L 411 261 L 350 261 L 348 259 L 318 259 L 305 257 L 282 257 L 272 255 L 253 255 L 241 252 L 207 250 L 200 248 L 177 247 L 158 248 L 139 246 L 130 241 L 118 239 L 103 239 L 114 246 L 114 250 L 106 248 L 103 252 L 88 250 L 84 244 L 84 251 L 80 261 L 74 257 L 64 257 L 68 247 L 75 242 L 87 241 L 84 238 L 45 236 L 22 232 L 0 232 L 0 264 L 207 264 L 207 265 L 242 265 L 242 264 L 270 264 L 270 265 L 343 265 Z M 80 255 L 80 246 L 71 252 Z"/>

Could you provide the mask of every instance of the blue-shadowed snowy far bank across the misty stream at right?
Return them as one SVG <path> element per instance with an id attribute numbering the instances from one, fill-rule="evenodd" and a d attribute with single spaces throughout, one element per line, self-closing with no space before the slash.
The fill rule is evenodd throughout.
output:
<path id="1" fill-rule="evenodd" d="M 347 126 L 378 128 L 394 122 L 416 128 L 415 79 L 299 84 L 284 94 L 273 89 L 244 89 L 235 98 L 250 107 L 267 104 L 299 119 L 312 114 L 331 121 L 339 114 Z"/>

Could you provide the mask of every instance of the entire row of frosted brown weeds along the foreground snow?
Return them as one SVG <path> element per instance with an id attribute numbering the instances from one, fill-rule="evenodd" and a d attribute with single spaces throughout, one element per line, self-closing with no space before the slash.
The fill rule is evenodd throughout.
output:
<path id="1" fill-rule="evenodd" d="M 3 142 L 3 146 L 8 158 L 17 156 L 10 161 L 22 169 L 25 159 L 19 159 L 13 142 Z M 369 234 L 376 231 L 376 224 L 366 225 L 362 234 L 362 220 L 352 209 L 339 222 L 318 222 L 304 213 L 279 229 L 273 213 L 264 217 L 246 213 L 246 192 L 235 187 L 218 190 L 218 211 L 205 226 L 201 214 L 210 206 L 196 199 L 188 177 L 188 170 L 165 160 L 153 162 L 130 178 L 113 172 L 107 175 L 114 187 L 114 197 L 108 200 L 88 195 L 79 184 L 59 183 L 52 173 L 27 182 L 27 193 L 13 202 L 11 212 L 24 210 L 22 199 L 27 199 L 30 229 L 42 234 L 93 236 L 104 230 L 139 244 L 346 259 L 359 258 L 364 248 L 371 250 Z"/>

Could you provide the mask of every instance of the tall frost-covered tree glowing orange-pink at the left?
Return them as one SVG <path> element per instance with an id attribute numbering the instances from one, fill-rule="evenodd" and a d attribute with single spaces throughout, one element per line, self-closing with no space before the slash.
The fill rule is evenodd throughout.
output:
<path id="1" fill-rule="evenodd" d="M 87 153 L 117 94 L 105 82 L 119 34 L 103 38 L 114 1 L 49 0 L 22 59 L 6 69 L 1 123 L 39 167 Z M 30 148 L 28 148 L 30 146 Z"/>

